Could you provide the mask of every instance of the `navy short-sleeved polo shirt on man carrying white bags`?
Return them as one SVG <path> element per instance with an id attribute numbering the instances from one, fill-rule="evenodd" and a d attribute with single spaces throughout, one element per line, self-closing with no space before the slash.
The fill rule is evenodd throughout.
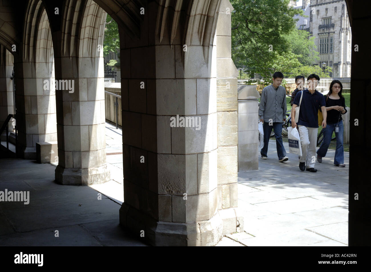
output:
<path id="1" fill-rule="evenodd" d="M 303 93 L 301 105 L 300 96 Z M 325 97 L 317 90 L 311 94 L 308 90 L 300 91 L 295 95 L 293 104 L 300 106 L 298 125 L 309 128 L 318 128 L 318 109 L 326 106 Z"/>

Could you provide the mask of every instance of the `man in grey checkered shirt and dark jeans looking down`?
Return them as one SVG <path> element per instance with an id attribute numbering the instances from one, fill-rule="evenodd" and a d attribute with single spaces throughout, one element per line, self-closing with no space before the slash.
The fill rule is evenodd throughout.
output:
<path id="1" fill-rule="evenodd" d="M 287 161 L 286 150 L 282 143 L 282 121 L 286 121 L 286 89 L 280 86 L 283 73 L 273 74 L 273 83 L 265 87 L 260 97 L 259 119 L 263 122 L 264 146 L 260 150 L 262 159 L 267 159 L 268 142 L 272 129 L 275 132 L 278 161 Z"/>

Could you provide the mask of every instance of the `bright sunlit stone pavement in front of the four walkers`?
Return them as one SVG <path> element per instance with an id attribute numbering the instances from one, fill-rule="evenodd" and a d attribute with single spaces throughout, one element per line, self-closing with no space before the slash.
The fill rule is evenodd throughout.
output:
<path id="1" fill-rule="evenodd" d="M 288 153 L 288 143 L 283 145 L 289 157 L 285 163 L 278 162 L 270 140 L 268 159 L 259 158 L 259 170 L 238 173 L 239 213 L 245 232 L 256 236 L 239 242 L 347 246 L 349 153 L 341 168 L 333 165 L 335 150 L 329 150 L 322 163 L 316 161 L 318 172 L 310 173 L 299 170 L 298 156 Z"/>

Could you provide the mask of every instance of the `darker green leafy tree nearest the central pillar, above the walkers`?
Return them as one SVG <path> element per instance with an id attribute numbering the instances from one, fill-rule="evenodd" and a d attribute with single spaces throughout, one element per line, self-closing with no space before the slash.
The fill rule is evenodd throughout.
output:
<path id="1" fill-rule="evenodd" d="M 295 30 L 295 14 L 303 15 L 301 9 L 288 7 L 289 0 L 231 0 L 232 12 L 232 59 L 236 65 L 246 67 L 248 74 L 259 73 L 266 81 L 278 63 L 291 51 L 287 39 Z M 286 58 L 288 62 L 293 58 Z M 253 81 L 250 80 L 249 83 Z M 266 82 L 268 83 L 268 82 Z"/>

